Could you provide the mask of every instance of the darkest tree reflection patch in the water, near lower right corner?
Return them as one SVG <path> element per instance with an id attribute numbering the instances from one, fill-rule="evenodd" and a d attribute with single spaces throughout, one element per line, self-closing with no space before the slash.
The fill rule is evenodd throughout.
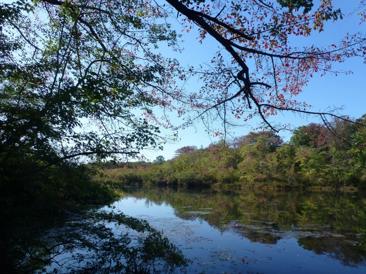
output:
<path id="1" fill-rule="evenodd" d="M 366 266 L 366 253 L 361 244 L 347 242 L 341 237 L 305 237 L 298 239 L 299 246 L 317 255 L 326 254 L 344 266 Z"/>

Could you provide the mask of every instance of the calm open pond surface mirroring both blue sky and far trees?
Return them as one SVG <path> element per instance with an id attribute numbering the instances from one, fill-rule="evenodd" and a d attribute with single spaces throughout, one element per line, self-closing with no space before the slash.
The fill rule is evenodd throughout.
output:
<path id="1" fill-rule="evenodd" d="M 147 220 L 188 273 L 366 273 L 366 192 L 130 187 L 113 206 Z"/>

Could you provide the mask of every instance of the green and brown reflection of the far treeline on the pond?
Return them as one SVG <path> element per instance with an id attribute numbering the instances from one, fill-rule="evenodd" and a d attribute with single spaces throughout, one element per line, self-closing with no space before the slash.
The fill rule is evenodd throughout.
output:
<path id="1" fill-rule="evenodd" d="M 144 186 L 131 188 L 131 196 L 145 199 L 146 207 L 170 206 L 175 216 L 182 220 L 206 222 L 221 235 L 227 233 L 244 237 L 251 243 L 268 248 L 295 240 L 298 248 L 312 251 L 309 258 L 323 258 L 320 256 L 325 255 L 343 266 L 343 269 L 337 270 L 333 264 L 335 272 L 365 271 L 365 192 L 202 190 Z M 168 224 L 164 228 L 167 227 Z M 181 246 L 186 245 L 182 243 Z M 212 249 L 206 249 L 212 252 Z M 278 253 L 281 250 L 275 251 Z M 327 266 L 330 263 L 324 262 L 323 267 L 324 264 Z M 301 267 L 296 270 L 299 269 Z M 264 267 L 260 270 L 266 272 Z M 295 267 L 292 269 L 294 271 Z"/>

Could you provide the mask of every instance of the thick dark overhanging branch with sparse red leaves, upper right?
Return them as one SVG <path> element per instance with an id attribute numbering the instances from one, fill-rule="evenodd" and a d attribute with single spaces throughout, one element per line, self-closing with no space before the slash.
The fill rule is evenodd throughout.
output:
<path id="1" fill-rule="evenodd" d="M 361 32 L 345 33 L 337 45 L 301 49 L 290 45 L 291 36 L 308 37 L 314 31 L 324 31 L 326 21 L 343 18 L 344 14 L 333 7 L 332 0 L 320 1 L 314 8 L 312 0 L 278 0 L 281 6 L 265 0 L 213 1 L 212 4 L 202 0 L 166 1 L 182 15 L 187 32 L 198 26 L 201 43 L 211 36 L 221 46 L 209 66 L 190 67 L 181 72 L 183 79 L 198 76 L 204 82 L 199 92 L 190 94 L 190 106 L 195 104 L 197 108 L 185 113 L 189 116 L 187 125 L 196 119 L 208 125 L 212 119 L 221 119 L 226 132 L 227 127 L 237 125 L 229 119 L 230 115 L 244 122 L 259 116 L 262 123 L 257 129 L 278 132 L 288 127 L 272 124 L 270 117 L 282 112 L 317 115 L 324 123 L 330 117 L 353 123 L 340 116 L 338 108 L 316 112 L 311 110 L 311 105 L 296 100 L 314 74 L 348 74 L 349 71 L 335 70 L 334 63 L 350 57 L 366 57 L 366 38 Z M 304 12 L 297 12 L 301 7 L 305 8 Z M 350 15 L 364 8 L 365 3 L 361 1 Z M 312 13 L 307 14 L 310 9 Z M 211 133 L 223 134 L 214 130 Z"/>

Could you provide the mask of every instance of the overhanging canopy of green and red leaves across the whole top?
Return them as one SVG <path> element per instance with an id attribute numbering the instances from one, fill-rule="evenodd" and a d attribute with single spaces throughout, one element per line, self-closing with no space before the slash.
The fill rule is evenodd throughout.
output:
<path id="1" fill-rule="evenodd" d="M 361 1 L 355 10 L 364 7 Z M 183 126 L 221 119 L 215 135 L 234 126 L 232 119 L 255 116 L 258 128 L 278 131 L 283 125 L 268 119 L 283 111 L 362 124 L 295 99 L 313 74 L 337 74 L 334 63 L 365 58 L 360 32 L 338 45 L 290 45 L 291 36 L 308 37 L 324 31 L 325 21 L 342 19 L 331 0 L 19 0 L 3 4 L 0 14 L 2 169 L 19 157 L 36 159 L 37 170 L 78 156 L 160 148 L 159 127 L 177 125 L 157 117 L 154 106 L 185 116 Z M 185 67 L 159 53 L 161 43 L 180 50 L 180 30 L 169 24 L 175 17 L 187 32 L 198 27 L 201 43 L 211 36 L 222 47 L 208 66 Z M 198 92 L 177 84 L 196 76 Z"/>

